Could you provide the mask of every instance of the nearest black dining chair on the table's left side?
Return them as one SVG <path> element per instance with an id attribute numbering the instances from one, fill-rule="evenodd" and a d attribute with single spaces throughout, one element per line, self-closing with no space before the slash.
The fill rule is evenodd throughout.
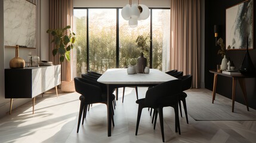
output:
<path id="1" fill-rule="evenodd" d="M 81 123 L 81 117 L 82 119 L 82 125 L 84 125 L 84 119 L 86 117 L 87 113 L 87 107 L 89 104 L 94 103 L 103 103 L 107 105 L 107 94 L 106 92 L 101 89 L 100 84 L 94 83 L 91 80 L 83 79 L 81 77 L 75 77 L 75 90 L 81 96 L 79 97 L 80 100 L 80 108 L 79 108 L 79 117 L 78 117 L 78 128 L 77 133 L 79 132 L 79 126 Z M 115 95 L 112 94 L 110 97 L 111 100 L 115 100 Z M 83 116 L 82 116 L 83 114 Z M 112 114 L 113 119 L 113 114 Z M 112 120 L 113 126 L 115 126 L 114 120 Z"/>

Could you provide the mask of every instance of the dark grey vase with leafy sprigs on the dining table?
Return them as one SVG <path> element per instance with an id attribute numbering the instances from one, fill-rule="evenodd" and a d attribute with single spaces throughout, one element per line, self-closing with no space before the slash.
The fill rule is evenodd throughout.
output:
<path id="1" fill-rule="evenodd" d="M 147 58 L 143 57 L 143 52 L 149 52 L 148 42 L 150 41 L 150 36 L 144 37 L 139 35 L 136 39 L 137 46 L 140 48 L 140 57 L 137 59 L 137 71 L 138 73 L 144 73 L 145 67 L 147 67 Z"/>

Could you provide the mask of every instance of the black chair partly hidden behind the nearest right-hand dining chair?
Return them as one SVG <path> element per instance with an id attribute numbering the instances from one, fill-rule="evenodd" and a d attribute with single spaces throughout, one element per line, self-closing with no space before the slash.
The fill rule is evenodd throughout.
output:
<path id="1" fill-rule="evenodd" d="M 183 108 L 184 108 L 184 112 L 185 112 L 185 116 L 186 116 L 186 121 L 187 123 L 189 123 L 189 120 L 187 118 L 187 104 L 186 104 L 186 97 L 187 94 L 184 92 L 187 89 L 190 89 L 192 86 L 192 75 L 188 74 L 186 76 L 181 76 L 178 77 L 178 79 L 182 80 L 182 93 L 178 96 L 178 104 L 180 106 L 180 115 L 182 117 L 182 111 L 181 111 L 181 101 L 183 102 Z"/>

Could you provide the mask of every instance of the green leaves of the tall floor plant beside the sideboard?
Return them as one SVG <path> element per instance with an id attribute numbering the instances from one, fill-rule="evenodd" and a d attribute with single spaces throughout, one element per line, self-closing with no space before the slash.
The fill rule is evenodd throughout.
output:
<path id="1" fill-rule="evenodd" d="M 60 54 L 60 62 L 63 62 L 66 58 L 70 61 L 70 50 L 73 49 L 73 43 L 75 43 L 75 33 L 70 30 L 70 26 L 66 26 L 60 29 L 48 29 L 47 33 L 53 35 L 55 48 L 53 49 L 53 56 Z"/>

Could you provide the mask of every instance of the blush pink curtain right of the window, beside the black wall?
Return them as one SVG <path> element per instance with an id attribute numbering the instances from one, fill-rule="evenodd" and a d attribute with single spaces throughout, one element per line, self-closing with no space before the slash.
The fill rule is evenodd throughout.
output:
<path id="1" fill-rule="evenodd" d="M 200 0 L 171 0 L 170 69 L 192 74 L 200 88 Z"/>

